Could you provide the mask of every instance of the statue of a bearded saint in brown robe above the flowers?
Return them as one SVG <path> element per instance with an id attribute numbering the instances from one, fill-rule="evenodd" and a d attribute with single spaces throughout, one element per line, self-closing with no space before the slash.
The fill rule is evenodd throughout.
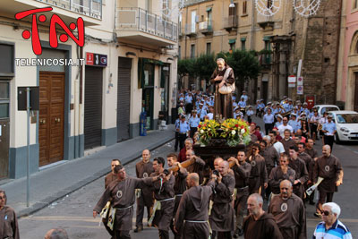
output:
<path id="1" fill-rule="evenodd" d="M 224 79 L 226 71 L 230 71 L 228 77 Z M 223 118 L 232 118 L 233 117 L 233 99 L 231 93 L 221 94 L 218 90 L 224 84 L 232 85 L 234 84 L 234 71 L 230 68 L 224 59 L 217 59 L 217 69 L 212 73 L 210 77 L 211 84 L 215 87 L 215 101 L 214 101 L 214 119 L 220 115 Z"/>

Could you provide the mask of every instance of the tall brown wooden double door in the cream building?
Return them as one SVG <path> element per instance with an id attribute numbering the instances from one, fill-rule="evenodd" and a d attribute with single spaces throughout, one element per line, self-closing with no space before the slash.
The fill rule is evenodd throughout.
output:
<path id="1" fill-rule="evenodd" d="M 39 73 L 39 166 L 64 158 L 64 73 Z"/>

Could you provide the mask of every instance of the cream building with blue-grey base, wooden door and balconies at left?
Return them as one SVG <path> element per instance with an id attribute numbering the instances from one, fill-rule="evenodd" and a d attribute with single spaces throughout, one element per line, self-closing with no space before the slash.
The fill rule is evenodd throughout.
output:
<path id="1" fill-rule="evenodd" d="M 47 7 L 52 10 L 14 18 Z M 170 121 L 177 23 L 162 13 L 159 1 L 0 2 L 0 178 L 26 175 L 27 114 L 18 109 L 19 87 L 39 90 L 39 110 L 30 114 L 30 173 L 139 135 L 142 111 L 147 111 L 148 130 L 157 129 L 159 117 Z M 80 17 L 83 47 L 78 45 Z M 177 16 L 173 19 L 177 22 Z M 42 48 L 38 55 L 31 45 L 35 25 Z M 58 64 L 70 59 L 73 64 Z"/>

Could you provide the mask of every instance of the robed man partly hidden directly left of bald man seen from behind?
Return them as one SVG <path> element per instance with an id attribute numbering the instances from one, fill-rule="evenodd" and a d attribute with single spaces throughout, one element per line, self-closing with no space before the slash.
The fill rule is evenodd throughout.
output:
<path id="1" fill-rule="evenodd" d="M 182 199 L 183 192 L 185 192 L 185 190 L 186 190 L 186 187 L 187 187 L 186 179 L 188 176 L 188 171 L 186 171 L 186 169 L 177 160 L 178 160 L 178 158 L 175 153 L 170 153 L 166 156 L 166 161 L 167 161 L 167 164 L 169 167 L 179 166 L 179 170 L 176 171 L 175 173 L 173 173 L 173 175 L 175 176 L 175 185 L 174 185 L 175 207 L 173 210 L 173 218 L 175 218 L 176 210 L 179 207 L 179 202 Z M 175 238 L 178 238 L 178 239 L 181 238 L 182 231 L 175 232 L 173 220 L 171 221 L 170 228 L 172 229 L 173 234 L 175 235 Z"/>

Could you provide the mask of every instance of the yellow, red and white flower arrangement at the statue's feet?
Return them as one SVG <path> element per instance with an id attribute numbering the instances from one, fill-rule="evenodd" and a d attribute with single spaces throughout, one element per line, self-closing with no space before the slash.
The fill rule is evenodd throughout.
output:
<path id="1" fill-rule="evenodd" d="M 221 123 L 216 120 L 205 120 L 198 126 L 200 144 L 209 145 L 213 139 L 224 139 L 226 145 L 235 147 L 238 144 L 249 144 L 251 141 L 249 124 L 242 119 L 226 119 Z"/>

